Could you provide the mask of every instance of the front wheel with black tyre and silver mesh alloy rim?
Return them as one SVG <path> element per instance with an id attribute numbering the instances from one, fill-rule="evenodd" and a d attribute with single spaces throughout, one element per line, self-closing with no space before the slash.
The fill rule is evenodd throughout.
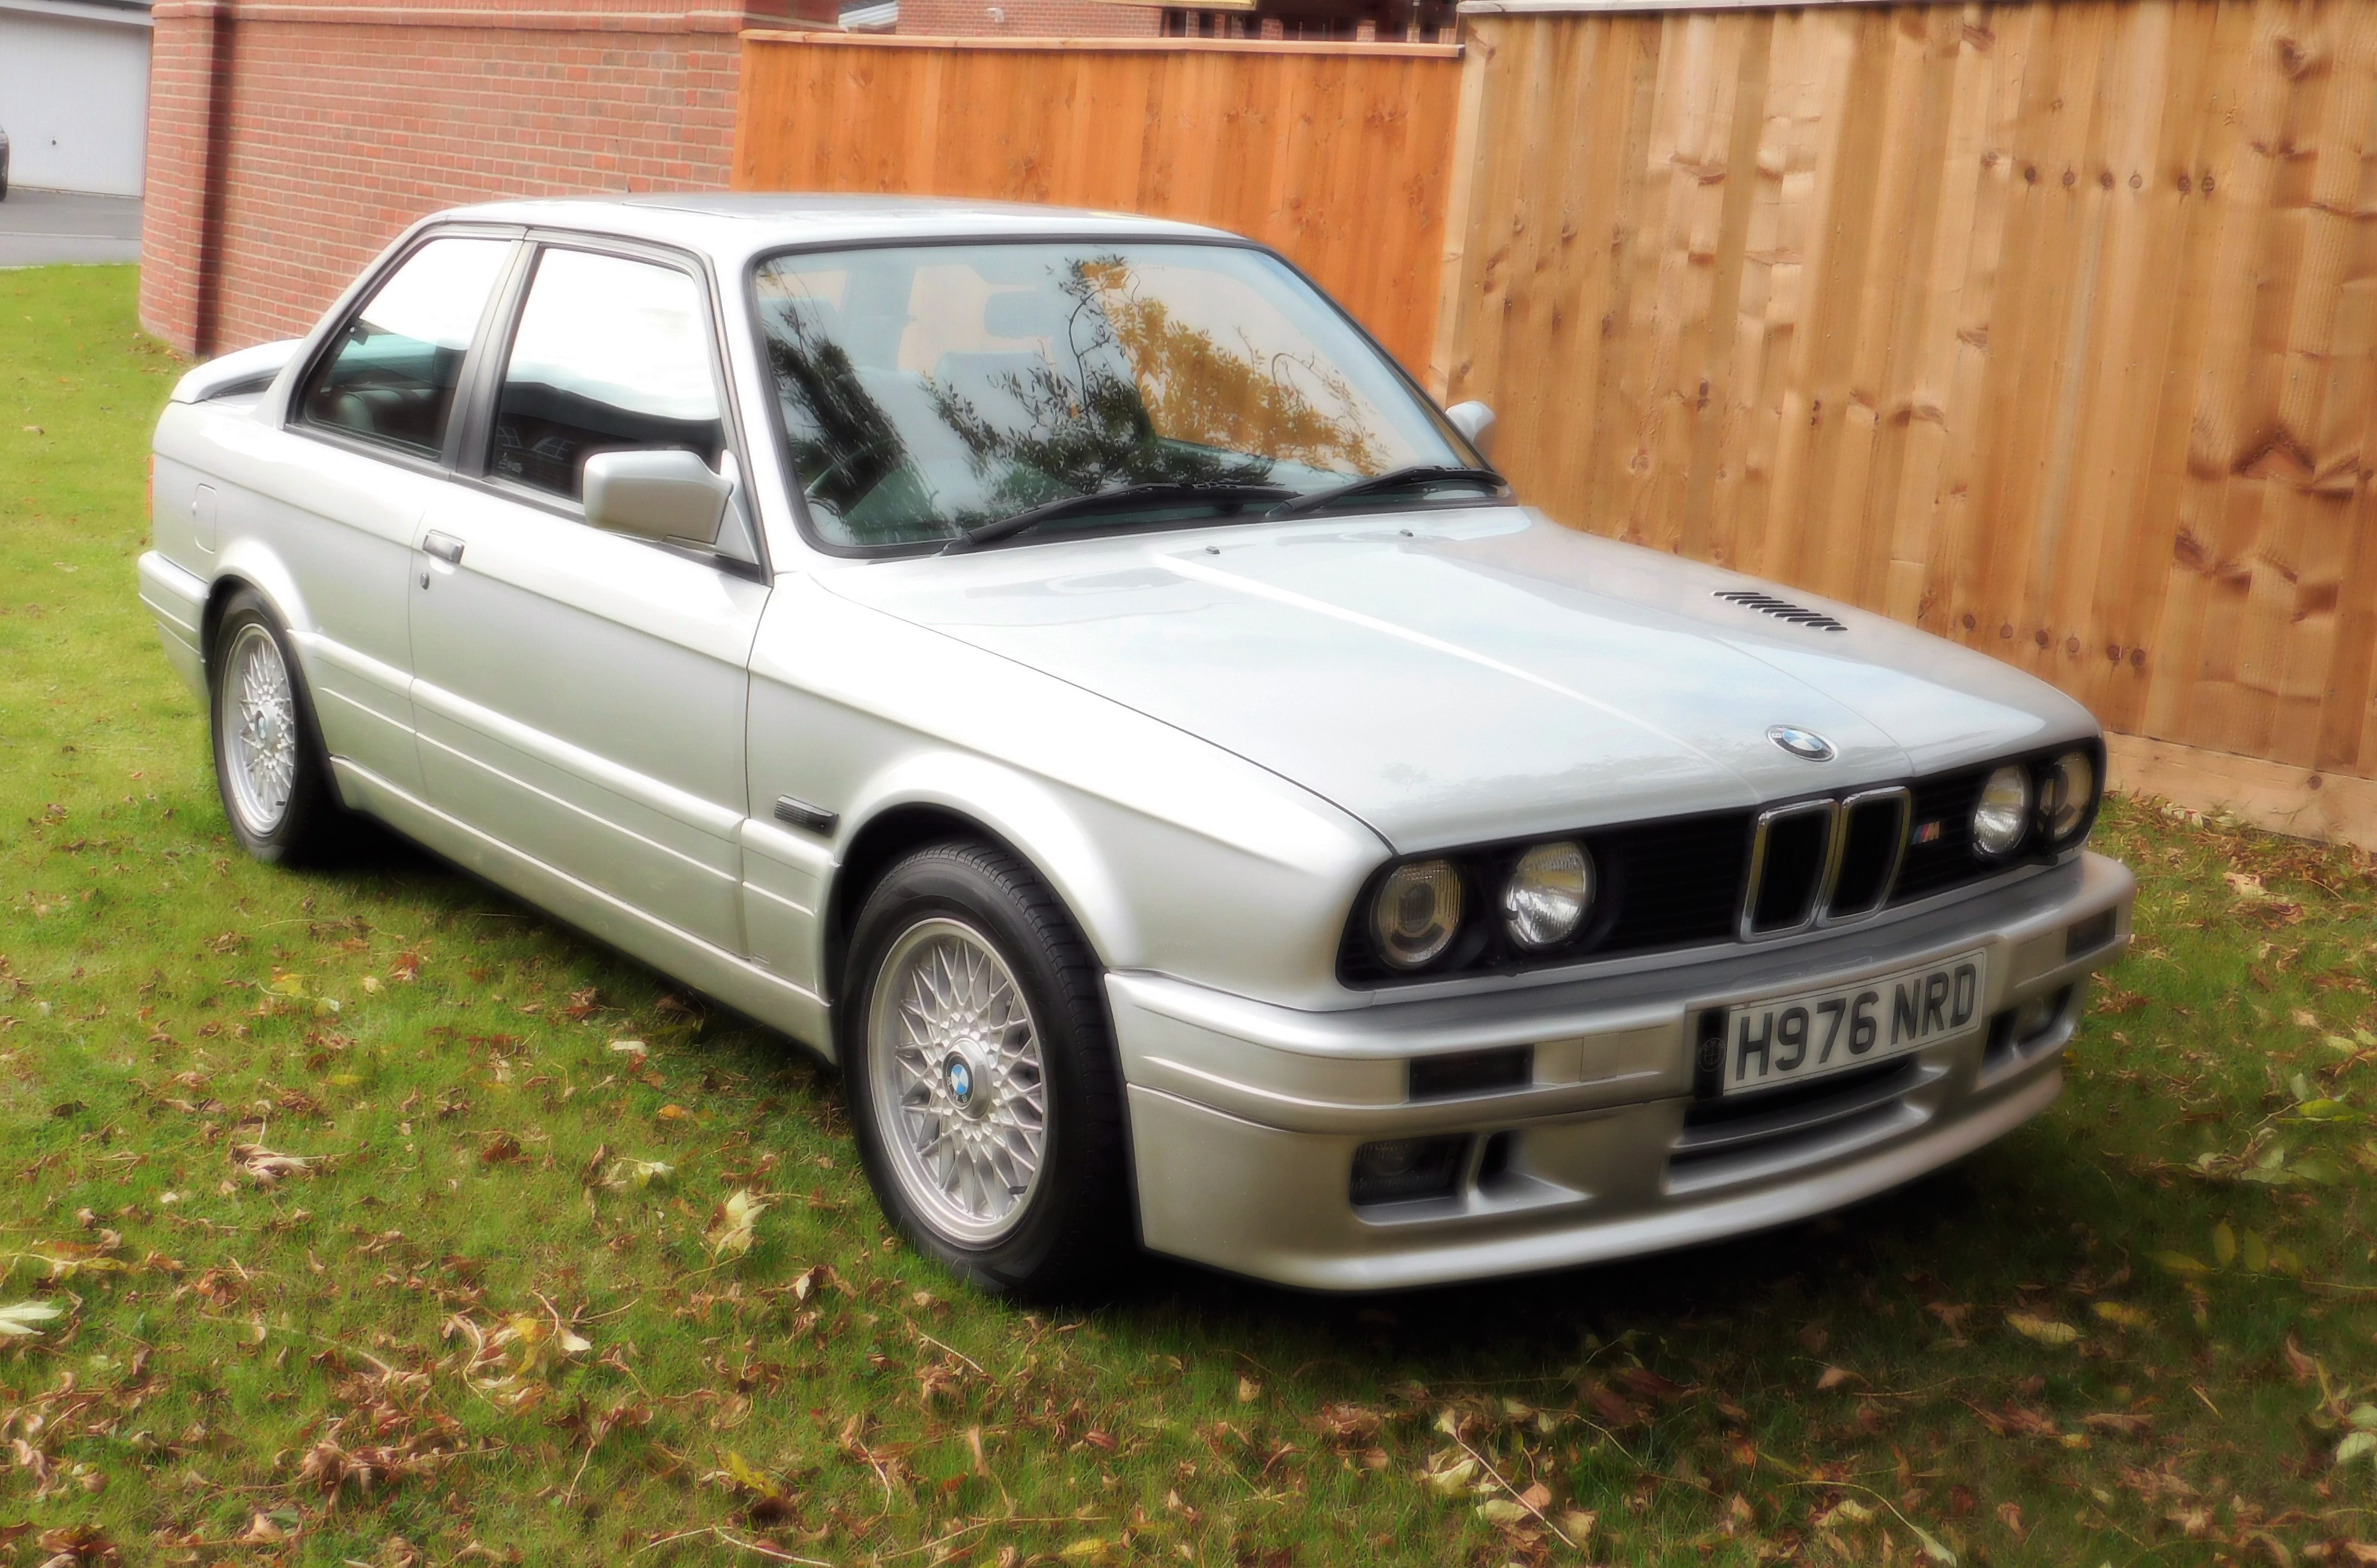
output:
<path id="1" fill-rule="evenodd" d="M 868 1181 L 991 1292 L 1070 1297 L 1136 1259 L 1122 1074 L 1098 962 L 1015 855 L 937 843 L 851 927 L 844 1093 Z"/>

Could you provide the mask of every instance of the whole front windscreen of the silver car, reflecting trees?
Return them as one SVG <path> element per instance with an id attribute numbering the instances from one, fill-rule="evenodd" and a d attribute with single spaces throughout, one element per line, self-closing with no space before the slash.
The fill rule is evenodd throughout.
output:
<path id="1" fill-rule="evenodd" d="M 1053 511 L 1027 539 L 1208 523 L 1476 461 L 1260 249 L 803 252 L 758 266 L 756 304 L 792 466 L 832 546 L 948 542 L 1034 508 Z M 1429 494 L 1388 487 L 1364 506 Z"/>

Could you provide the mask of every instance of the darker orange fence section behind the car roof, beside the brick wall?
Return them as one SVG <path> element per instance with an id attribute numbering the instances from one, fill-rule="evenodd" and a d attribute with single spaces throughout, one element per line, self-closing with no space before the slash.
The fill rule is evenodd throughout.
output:
<path id="1" fill-rule="evenodd" d="M 1279 247 L 1414 371 L 1459 48 L 746 33 L 737 190 L 1146 211 Z"/>

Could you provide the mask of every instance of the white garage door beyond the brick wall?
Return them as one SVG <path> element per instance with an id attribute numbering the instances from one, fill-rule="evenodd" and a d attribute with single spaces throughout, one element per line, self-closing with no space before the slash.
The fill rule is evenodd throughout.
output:
<path id="1" fill-rule="evenodd" d="M 0 10 L 0 131 L 10 183 L 140 195 L 145 26 Z"/>

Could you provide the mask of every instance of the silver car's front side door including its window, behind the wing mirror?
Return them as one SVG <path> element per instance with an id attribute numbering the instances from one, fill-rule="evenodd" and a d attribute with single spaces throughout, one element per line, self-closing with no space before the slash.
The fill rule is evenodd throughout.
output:
<path id="1" fill-rule="evenodd" d="M 542 242 L 414 563 L 428 801 L 742 955 L 746 660 L 768 577 L 739 497 L 715 551 L 585 523 L 597 451 L 732 473 L 708 285 L 689 261 Z"/>

